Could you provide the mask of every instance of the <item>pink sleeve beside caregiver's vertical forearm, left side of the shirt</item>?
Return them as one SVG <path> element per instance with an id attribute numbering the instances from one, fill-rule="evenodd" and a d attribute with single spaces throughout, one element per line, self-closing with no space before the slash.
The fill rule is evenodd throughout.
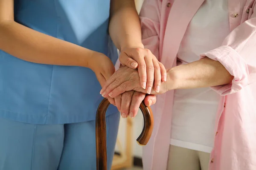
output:
<path id="1" fill-rule="evenodd" d="M 160 0 L 144 0 L 140 11 L 142 42 L 159 58 Z"/>

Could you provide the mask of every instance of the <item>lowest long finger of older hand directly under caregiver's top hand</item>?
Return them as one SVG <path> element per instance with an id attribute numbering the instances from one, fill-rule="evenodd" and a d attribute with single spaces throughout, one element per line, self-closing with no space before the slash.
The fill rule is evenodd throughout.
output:
<path id="1" fill-rule="evenodd" d="M 119 94 L 124 93 L 125 91 L 131 91 L 135 88 L 136 84 L 133 83 L 132 80 L 129 80 L 127 82 L 123 82 L 121 85 L 119 85 L 117 88 L 115 88 L 113 91 L 109 93 L 109 96 L 114 98 Z"/>

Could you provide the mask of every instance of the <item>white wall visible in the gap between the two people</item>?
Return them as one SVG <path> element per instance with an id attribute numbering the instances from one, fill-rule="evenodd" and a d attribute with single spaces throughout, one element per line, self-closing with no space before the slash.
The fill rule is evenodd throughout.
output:
<path id="1" fill-rule="evenodd" d="M 140 8 L 143 4 L 143 0 L 135 0 L 137 11 L 140 11 Z M 127 119 L 123 119 L 121 117 L 118 131 L 118 138 L 122 144 L 123 149 L 125 149 L 125 133 L 126 133 L 126 121 Z M 140 135 L 143 129 L 143 115 L 141 111 L 137 114 L 135 118 L 132 119 L 133 129 L 132 129 L 132 149 L 134 156 L 141 157 L 142 156 L 142 146 L 138 145 L 136 142 L 137 137 Z M 116 151 L 119 149 L 116 147 Z"/>

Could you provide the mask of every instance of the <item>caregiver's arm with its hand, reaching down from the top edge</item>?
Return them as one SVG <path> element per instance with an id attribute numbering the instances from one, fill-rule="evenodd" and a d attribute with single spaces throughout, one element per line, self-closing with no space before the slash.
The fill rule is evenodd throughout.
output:
<path id="1" fill-rule="evenodd" d="M 109 33 L 116 47 L 121 51 L 122 65 L 138 68 L 140 85 L 151 92 L 159 90 L 161 80 L 166 79 L 166 69 L 150 50 L 144 49 L 140 20 L 134 0 L 111 0 Z"/>

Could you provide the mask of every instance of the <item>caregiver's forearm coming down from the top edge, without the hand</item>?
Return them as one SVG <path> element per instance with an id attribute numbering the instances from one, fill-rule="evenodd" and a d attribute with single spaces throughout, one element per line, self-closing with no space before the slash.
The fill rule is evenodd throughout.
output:
<path id="1" fill-rule="evenodd" d="M 111 0 L 109 34 L 121 51 L 125 48 L 143 48 L 140 20 L 134 0 Z"/>

